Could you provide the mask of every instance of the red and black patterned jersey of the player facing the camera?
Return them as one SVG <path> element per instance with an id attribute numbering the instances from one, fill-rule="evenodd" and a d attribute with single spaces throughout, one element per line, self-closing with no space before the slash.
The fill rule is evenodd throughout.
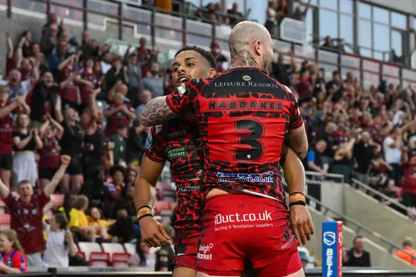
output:
<path id="1" fill-rule="evenodd" d="M 146 138 L 145 152 L 153 161 L 170 163 L 177 190 L 175 229 L 199 229 L 202 196 L 198 181 L 202 148 L 198 124 L 181 116 L 152 127 Z"/>

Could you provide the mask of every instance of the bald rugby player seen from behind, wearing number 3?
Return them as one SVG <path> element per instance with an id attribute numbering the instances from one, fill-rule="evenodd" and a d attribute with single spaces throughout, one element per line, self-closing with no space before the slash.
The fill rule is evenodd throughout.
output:
<path id="1" fill-rule="evenodd" d="M 304 276 L 296 238 L 309 240 L 313 225 L 303 190 L 291 191 L 293 233 L 279 175 L 285 137 L 301 159 L 308 148 L 297 100 L 267 75 L 273 44 L 264 26 L 234 26 L 229 50 L 227 71 L 151 100 L 141 121 L 158 125 L 189 112 L 198 118 L 207 196 L 197 276 L 240 276 L 245 259 L 259 276 Z"/>

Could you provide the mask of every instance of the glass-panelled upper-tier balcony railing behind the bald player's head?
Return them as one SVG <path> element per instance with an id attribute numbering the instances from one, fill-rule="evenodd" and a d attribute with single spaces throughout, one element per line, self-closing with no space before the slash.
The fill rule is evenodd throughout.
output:
<path id="1" fill-rule="evenodd" d="M 216 41 L 221 49 L 228 48 L 229 26 L 218 26 L 201 22 L 200 18 L 189 15 L 189 12 L 173 12 L 155 8 L 154 6 L 139 5 L 121 0 L 0 0 L 7 8 L 10 18 L 16 9 L 31 10 L 31 12 L 48 14 L 55 12 L 58 16 L 78 22 L 86 30 L 92 26 L 105 28 L 107 24 L 116 24 L 117 37 L 123 39 L 123 30 L 132 28 L 133 35 L 150 37 L 151 46 L 160 46 L 164 41 L 165 47 L 180 48 L 185 44 L 196 44 L 209 47 Z M 26 13 L 27 14 L 27 13 Z M 293 53 L 297 62 L 309 60 L 318 62 L 328 73 L 338 70 L 343 76 L 352 72 L 355 77 L 363 80 L 366 86 L 379 84 L 386 80 L 393 84 L 407 85 L 416 82 L 416 71 L 401 68 L 397 64 L 372 60 L 352 53 L 340 53 L 337 49 L 323 50 L 320 45 L 294 44 L 279 39 L 273 39 L 275 50 L 288 56 Z M 180 44 L 180 45 L 178 45 Z M 162 48 L 162 47 L 159 47 Z M 177 49 L 176 49 L 177 50 Z M 337 52 L 338 51 L 338 52 Z"/>

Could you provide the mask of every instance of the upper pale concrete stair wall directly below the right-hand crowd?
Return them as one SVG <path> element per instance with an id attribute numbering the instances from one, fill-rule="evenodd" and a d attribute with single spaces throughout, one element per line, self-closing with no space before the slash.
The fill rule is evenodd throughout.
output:
<path id="1" fill-rule="evenodd" d="M 381 204 L 365 193 L 344 186 L 345 215 L 401 246 L 410 236 L 416 241 L 416 224 L 405 215 Z"/>

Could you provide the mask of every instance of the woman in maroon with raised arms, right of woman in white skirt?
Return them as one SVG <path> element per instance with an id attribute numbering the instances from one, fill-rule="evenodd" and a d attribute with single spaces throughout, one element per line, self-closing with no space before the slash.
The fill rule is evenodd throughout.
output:
<path id="1" fill-rule="evenodd" d="M 49 184 L 53 175 L 60 166 L 59 141 L 64 134 L 64 128 L 51 115 L 47 114 L 47 120 L 40 127 L 39 133 L 44 147 L 40 150 L 39 179 L 40 188 Z"/>

